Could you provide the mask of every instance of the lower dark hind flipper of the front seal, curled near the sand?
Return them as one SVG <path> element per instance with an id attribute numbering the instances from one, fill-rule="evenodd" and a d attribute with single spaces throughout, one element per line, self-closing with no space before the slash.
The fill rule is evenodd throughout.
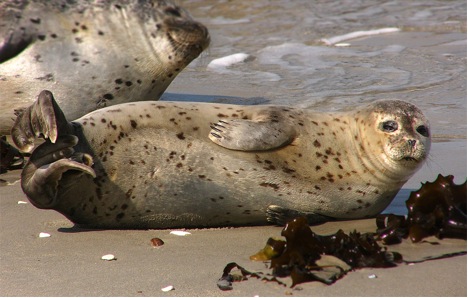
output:
<path id="1" fill-rule="evenodd" d="M 65 135 L 55 144 L 46 141 L 34 150 L 21 173 L 21 187 L 34 206 L 43 209 L 54 206 L 59 182 L 67 171 L 96 177 L 91 168 L 92 157 L 74 152 L 77 143 L 76 136 Z"/>

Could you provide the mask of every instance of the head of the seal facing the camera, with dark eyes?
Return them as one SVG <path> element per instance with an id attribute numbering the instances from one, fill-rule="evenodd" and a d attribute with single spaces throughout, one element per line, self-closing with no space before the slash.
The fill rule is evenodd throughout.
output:
<path id="1" fill-rule="evenodd" d="M 400 101 L 377 101 L 356 117 L 364 148 L 378 154 L 376 161 L 390 172 L 409 178 L 431 148 L 429 122 L 416 106 Z M 366 120 L 367 118 L 367 120 Z M 381 148 L 381 152 L 375 152 Z"/>

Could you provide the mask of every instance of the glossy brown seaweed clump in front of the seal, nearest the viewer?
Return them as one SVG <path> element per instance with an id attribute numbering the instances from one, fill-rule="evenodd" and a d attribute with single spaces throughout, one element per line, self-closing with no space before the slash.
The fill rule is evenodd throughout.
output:
<path id="1" fill-rule="evenodd" d="M 332 284 L 352 269 L 394 267 L 402 260 L 400 254 L 379 246 L 373 233 L 354 231 L 346 234 L 339 230 L 335 234 L 321 236 L 310 229 L 303 217 L 288 222 L 281 235 L 286 241 L 270 238 L 264 249 L 251 256 L 252 260 L 271 260 L 271 275 L 252 273 L 230 263 L 224 269 L 218 287 L 232 289 L 232 281 L 244 280 L 247 276 L 280 284 L 283 283 L 278 277 L 290 276 L 291 287 L 310 281 Z M 241 275 L 231 274 L 234 268 L 238 268 Z"/>

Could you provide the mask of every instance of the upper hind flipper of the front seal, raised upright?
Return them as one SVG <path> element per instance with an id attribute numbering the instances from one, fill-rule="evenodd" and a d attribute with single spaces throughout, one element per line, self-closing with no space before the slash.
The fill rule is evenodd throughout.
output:
<path id="1" fill-rule="evenodd" d="M 55 143 L 59 135 L 71 133 L 71 123 L 50 91 L 42 91 L 37 100 L 16 118 L 11 129 L 13 142 L 25 152 L 34 148 L 34 140 L 39 137 Z"/>

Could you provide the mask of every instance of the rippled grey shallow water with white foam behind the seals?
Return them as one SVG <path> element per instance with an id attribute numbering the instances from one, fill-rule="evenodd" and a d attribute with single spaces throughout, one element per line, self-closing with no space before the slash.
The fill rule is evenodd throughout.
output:
<path id="1" fill-rule="evenodd" d="M 399 98 L 428 115 L 436 137 L 466 138 L 465 1 L 178 3 L 209 28 L 212 44 L 164 99 L 335 110 Z M 401 31 L 346 40 L 344 47 L 321 41 L 387 27 Z M 207 67 L 235 53 L 249 58 Z"/>

